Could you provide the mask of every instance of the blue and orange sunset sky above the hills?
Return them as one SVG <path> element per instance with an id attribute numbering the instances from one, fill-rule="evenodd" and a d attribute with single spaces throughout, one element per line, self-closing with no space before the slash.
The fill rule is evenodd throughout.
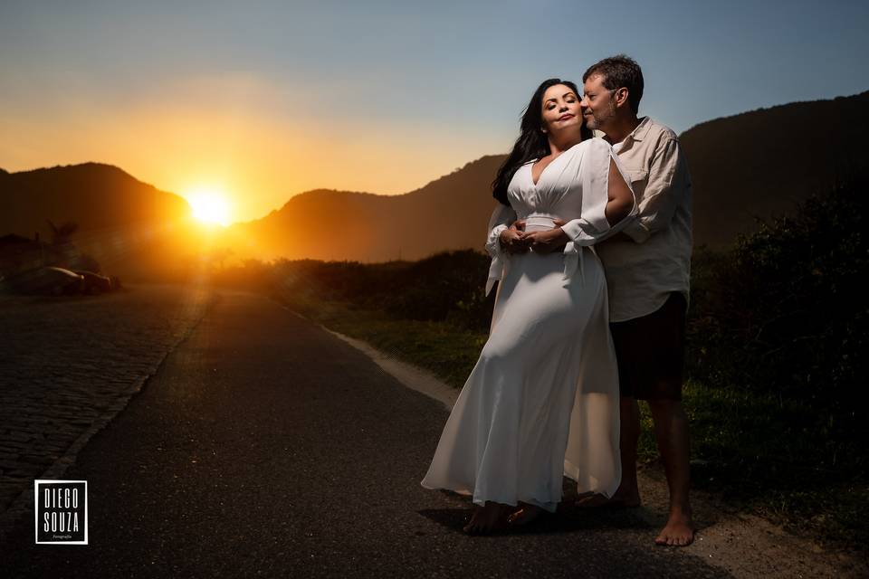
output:
<path id="1" fill-rule="evenodd" d="M 505 152 L 540 81 L 616 52 L 643 66 L 641 114 L 682 132 L 869 90 L 867 30 L 867 2 L 3 0 L 0 166 L 99 160 L 169 190 L 210 171 L 250 216 L 404 193 Z"/>

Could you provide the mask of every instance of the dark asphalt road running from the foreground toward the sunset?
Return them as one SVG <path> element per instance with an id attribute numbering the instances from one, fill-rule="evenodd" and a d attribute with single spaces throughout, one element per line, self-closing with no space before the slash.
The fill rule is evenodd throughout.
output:
<path id="1" fill-rule="evenodd" d="M 423 489 L 447 413 L 259 296 L 222 292 L 65 479 L 87 546 L 0 546 L 12 577 L 724 576 L 630 513 L 570 509 L 464 536 L 470 502 Z"/>

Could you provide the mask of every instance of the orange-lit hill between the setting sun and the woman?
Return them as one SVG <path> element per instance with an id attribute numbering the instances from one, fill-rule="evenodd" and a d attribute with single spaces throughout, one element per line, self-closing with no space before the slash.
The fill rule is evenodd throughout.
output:
<path id="1" fill-rule="evenodd" d="M 503 157 L 482 157 L 406 195 L 316 190 L 263 219 L 237 223 L 233 247 L 267 259 L 417 260 L 447 249 L 482 251 Z"/>

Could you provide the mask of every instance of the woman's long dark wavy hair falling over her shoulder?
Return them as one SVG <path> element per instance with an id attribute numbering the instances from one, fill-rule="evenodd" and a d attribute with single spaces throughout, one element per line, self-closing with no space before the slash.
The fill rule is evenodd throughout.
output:
<path id="1" fill-rule="evenodd" d="M 531 159 L 546 157 L 549 155 L 549 138 L 546 133 L 540 130 L 543 126 L 543 93 L 551 86 L 563 84 L 569 87 L 579 97 L 577 85 L 571 81 L 562 81 L 561 79 L 547 79 L 540 83 L 537 90 L 531 96 L 531 100 L 525 110 L 522 111 L 522 120 L 520 122 L 520 135 L 516 139 L 516 144 L 513 145 L 513 150 L 507 156 L 507 160 L 498 169 L 498 176 L 492 181 L 492 196 L 502 204 L 509 205 L 507 200 L 507 185 L 515 175 L 520 166 L 528 163 Z M 582 139 L 594 137 L 594 133 L 585 124 L 582 126 Z"/>

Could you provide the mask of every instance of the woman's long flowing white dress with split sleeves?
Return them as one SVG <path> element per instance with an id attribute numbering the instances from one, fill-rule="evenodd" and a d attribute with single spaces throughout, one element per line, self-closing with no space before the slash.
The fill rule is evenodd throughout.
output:
<path id="1" fill-rule="evenodd" d="M 612 496 L 621 479 L 616 353 L 608 326 L 606 280 L 591 246 L 610 227 L 609 160 L 630 184 L 612 147 L 580 142 L 543 169 L 530 161 L 508 187 L 511 207 L 496 208 L 487 250 L 486 293 L 500 280 L 489 339 L 456 400 L 421 484 L 507 505 L 524 501 L 554 512 L 562 475 L 578 491 Z M 563 252 L 507 254 L 498 235 L 515 218 L 526 231 L 568 223 Z"/>

